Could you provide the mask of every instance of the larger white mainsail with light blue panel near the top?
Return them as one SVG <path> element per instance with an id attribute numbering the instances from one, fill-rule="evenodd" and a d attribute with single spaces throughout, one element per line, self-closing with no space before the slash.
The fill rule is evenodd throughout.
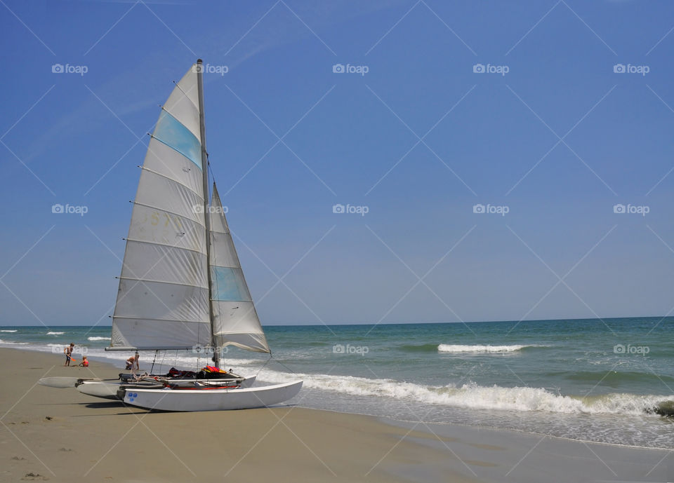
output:
<path id="1" fill-rule="evenodd" d="M 166 101 L 147 149 L 112 320 L 112 347 L 211 343 L 197 69 Z"/>

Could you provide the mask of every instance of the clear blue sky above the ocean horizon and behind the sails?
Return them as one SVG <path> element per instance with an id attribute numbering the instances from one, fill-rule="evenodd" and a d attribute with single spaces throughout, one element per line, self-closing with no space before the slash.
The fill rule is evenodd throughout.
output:
<path id="1" fill-rule="evenodd" d="M 0 324 L 110 323 L 146 133 L 197 57 L 227 66 L 207 144 L 263 324 L 666 315 L 673 14 L 4 0 Z"/>

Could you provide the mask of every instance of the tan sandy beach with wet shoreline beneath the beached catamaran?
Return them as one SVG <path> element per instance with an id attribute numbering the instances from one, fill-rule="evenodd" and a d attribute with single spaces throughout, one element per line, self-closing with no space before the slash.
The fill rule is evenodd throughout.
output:
<path id="1" fill-rule="evenodd" d="M 150 413 L 44 376 L 115 377 L 0 349 L 0 480 L 105 482 L 666 482 L 667 450 L 275 407 Z"/>

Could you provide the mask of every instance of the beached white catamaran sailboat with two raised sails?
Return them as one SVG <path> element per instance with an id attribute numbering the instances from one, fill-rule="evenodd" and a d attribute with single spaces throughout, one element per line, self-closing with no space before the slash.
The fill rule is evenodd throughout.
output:
<path id="1" fill-rule="evenodd" d="M 79 379 L 82 393 L 147 409 L 213 411 L 279 404 L 302 387 L 303 381 L 251 387 L 254 378 L 218 369 L 227 346 L 271 351 L 215 183 L 209 203 L 202 73 L 199 59 L 176 84 L 151 135 L 105 350 L 211 348 L 217 373 L 205 380 Z"/>

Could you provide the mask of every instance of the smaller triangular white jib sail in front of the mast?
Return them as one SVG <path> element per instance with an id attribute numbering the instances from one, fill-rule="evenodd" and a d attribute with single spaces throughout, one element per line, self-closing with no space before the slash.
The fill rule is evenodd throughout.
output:
<path id="1" fill-rule="evenodd" d="M 267 339 L 251 299 L 215 184 L 210 211 L 213 345 L 232 345 L 268 353 Z"/>

